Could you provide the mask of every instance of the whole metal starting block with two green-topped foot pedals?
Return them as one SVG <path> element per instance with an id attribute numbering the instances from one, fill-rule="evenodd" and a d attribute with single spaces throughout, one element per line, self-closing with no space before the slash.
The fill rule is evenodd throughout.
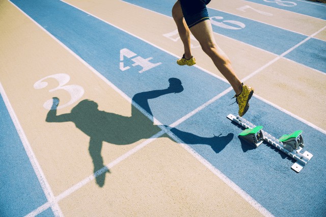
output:
<path id="1" fill-rule="evenodd" d="M 313 156 L 308 151 L 300 153 L 304 147 L 301 130 L 297 130 L 292 134 L 285 134 L 280 139 L 276 139 L 272 135 L 263 131 L 262 126 L 255 126 L 244 118 L 232 114 L 228 115 L 227 118 L 246 128 L 246 130 L 242 131 L 239 135 L 251 145 L 258 147 L 263 141 L 266 141 L 270 145 L 295 159 L 296 162 L 292 165 L 291 169 L 297 173 L 304 168 Z"/>

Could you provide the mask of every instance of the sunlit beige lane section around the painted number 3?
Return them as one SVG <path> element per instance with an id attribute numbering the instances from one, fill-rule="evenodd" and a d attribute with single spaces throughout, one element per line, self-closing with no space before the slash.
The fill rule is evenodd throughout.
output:
<path id="1" fill-rule="evenodd" d="M 88 150 L 90 137 L 85 132 L 92 132 L 94 125 L 106 127 L 108 134 L 115 133 L 112 140 L 117 139 L 117 143 L 128 144 L 104 142 L 104 164 L 160 130 L 139 112 L 132 120 L 128 118 L 131 116 L 130 102 L 13 5 L 7 1 L 2 4 L 6 10 L 0 19 L 0 80 L 55 196 L 93 173 L 93 162 Z M 39 79 L 57 73 L 70 75 L 67 85 L 79 85 L 85 89 L 84 96 L 77 102 L 58 110 L 60 115 L 70 113 L 73 107 L 77 108 L 76 112 L 80 115 L 77 121 L 84 131 L 73 122 L 45 121 L 48 111 L 43 108 L 43 103 L 58 97 L 62 105 L 69 101 L 70 96 L 64 90 L 48 92 L 58 86 L 55 79 L 47 79 L 49 85 L 44 89 L 37 90 L 33 86 Z M 168 87 L 168 81 L 166 83 Z M 96 102 L 98 109 L 92 108 L 92 103 L 86 103 L 82 108 L 76 107 L 84 99 Z M 107 122 L 99 123 L 98 119 L 97 122 L 83 121 L 86 116 L 96 118 L 98 110 L 107 113 L 104 115 Z"/>

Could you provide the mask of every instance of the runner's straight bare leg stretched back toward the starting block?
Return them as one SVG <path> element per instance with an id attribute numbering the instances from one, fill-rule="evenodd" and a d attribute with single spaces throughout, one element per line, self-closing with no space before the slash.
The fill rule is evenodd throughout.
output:
<path id="1" fill-rule="evenodd" d="M 210 20 L 204 20 L 194 25 L 190 31 L 199 41 L 204 52 L 212 59 L 215 66 L 229 81 L 236 95 L 242 91 L 242 85 L 239 78 L 233 71 L 231 62 L 223 50 L 216 45 Z"/>

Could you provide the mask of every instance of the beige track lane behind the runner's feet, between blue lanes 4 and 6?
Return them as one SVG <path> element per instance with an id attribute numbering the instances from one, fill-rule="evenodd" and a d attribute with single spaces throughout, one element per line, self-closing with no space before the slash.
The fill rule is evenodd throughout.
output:
<path id="1" fill-rule="evenodd" d="M 183 52 L 180 40 L 178 42 L 173 42 L 167 37 L 162 36 L 176 30 L 175 23 L 170 17 L 119 0 L 113 0 L 110 3 L 107 3 L 105 0 L 99 0 L 96 3 L 85 0 L 69 0 L 66 2 L 107 22 L 117 25 L 119 28 L 137 35 L 171 53 L 174 53 L 175 55 L 180 56 Z M 282 10 L 282 12 L 286 11 Z M 121 14 L 125 15 L 121 16 Z M 221 46 L 230 57 L 235 72 L 240 78 L 253 73 L 277 57 L 269 52 L 218 34 L 215 34 L 215 38 L 218 45 Z M 197 45 L 196 42 L 193 43 L 194 45 Z M 193 49 L 193 55 L 197 60 L 198 66 L 223 77 L 201 48 Z M 284 60 L 282 60 L 282 63 L 283 62 Z M 274 73 L 272 74 L 284 72 L 284 77 L 290 80 L 279 79 L 278 77 L 271 76 L 263 77 L 265 80 L 261 80 L 262 75 L 255 75 L 246 83 L 252 85 L 256 89 L 255 93 L 257 95 L 262 95 L 267 100 L 285 108 L 289 112 L 305 118 L 307 121 L 322 129 L 326 129 L 325 119 L 318 118 L 315 115 L 324 114 L 324 109 L 320 102 L 326 101 L 326 96 L 321 95 L 321 92 L 325 90 L 325 83 L 323 82 L 326 76 L 301 64 L 293 63 L 291 61 L 286 62 L 288 62 L 288 64 L 279 64 L 278 61 L 274 63 L 276 66 L 273 66 Z M 293 77 L 293 74 L 290 76 L 291 73 L 295 73 L 296 68 L 300 68 L 300 71 L 305 71 L 306 73 L 300 72 L 297 75 L 295 74 L 297 77 Z M 274 79 L 278 80 L 278 83 L 273 82 Z M 296 84 L 294 84 L 294 80 L 296 81 Z M 315 81 L 315 83 L 311 85 L 310 81 Z M 305 89 L 301 89 L 301 91 L 293 91 L 293 89 L 287 88 L 289 83 L 295 86 L 294 89 L 302 87 L 305 87 Z M 278 90 L 278 97 L 275 97 L 271 90 Z M 308 108 L 312 109 L 310 110 Z"/>

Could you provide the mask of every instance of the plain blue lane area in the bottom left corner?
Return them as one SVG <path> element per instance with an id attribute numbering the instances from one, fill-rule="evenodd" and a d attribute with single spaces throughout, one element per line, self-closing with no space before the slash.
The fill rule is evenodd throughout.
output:
<path id="1" fill-rule="evenodd" d="M 0 120 L 0 216 L 24 216 L 47 200 L 1 95 Z"/>

